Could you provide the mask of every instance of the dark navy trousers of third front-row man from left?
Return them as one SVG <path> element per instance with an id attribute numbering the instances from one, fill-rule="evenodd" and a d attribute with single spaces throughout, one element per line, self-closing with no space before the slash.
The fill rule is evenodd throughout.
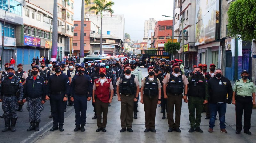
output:
<path id="1" fill-rule="evenodd" d="M 64 123 L 64 110 L 66 108 L 66 102 L 63 101 L 65 93 L 62 94 L 51 94 L 50 104 L 52 108 L 53 126 L 63 126 Z"/>

